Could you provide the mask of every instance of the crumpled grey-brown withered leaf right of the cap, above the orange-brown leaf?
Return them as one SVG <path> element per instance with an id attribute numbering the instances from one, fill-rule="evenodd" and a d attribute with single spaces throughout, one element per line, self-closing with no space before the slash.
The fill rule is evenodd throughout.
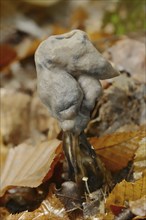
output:
<path id="1" fill-rule="evenodd" d="M 87 127 L 90 136 L 112 134 L 124 125 L 146 124 L 146 85 L 126 73 L 112 80 L 97 102 L 94 118 Z"/>

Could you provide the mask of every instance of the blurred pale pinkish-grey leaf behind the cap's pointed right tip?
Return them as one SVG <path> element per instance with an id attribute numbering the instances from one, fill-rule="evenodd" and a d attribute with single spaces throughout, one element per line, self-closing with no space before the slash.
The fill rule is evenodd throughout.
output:
<path id="1" fill-rule="evenodd" d="M 126 38 L 119 40 L 108 52 L 112 62 L 119 70 L 125 70 L 138 81 L 145 82 L 146 54 L 144 42 Z"/>

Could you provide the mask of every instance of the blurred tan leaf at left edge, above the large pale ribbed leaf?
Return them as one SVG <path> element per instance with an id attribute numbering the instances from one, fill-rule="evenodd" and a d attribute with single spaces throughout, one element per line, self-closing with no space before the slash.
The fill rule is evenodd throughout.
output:
<path id="1" fill-rule="evenodd" d="M 1 89 L 1 134 L 6 143 L 19 144 L 30 135 L 29 109 L 31 98 L 11 89 Z"/>

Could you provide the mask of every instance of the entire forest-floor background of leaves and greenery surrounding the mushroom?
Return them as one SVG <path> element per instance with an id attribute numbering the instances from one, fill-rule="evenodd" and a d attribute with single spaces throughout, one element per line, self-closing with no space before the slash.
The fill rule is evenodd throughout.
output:
<path id="1" fill-rule="evenodd" d="M 6 0 L 1 9 L 0 219 L 146 219 L 144 0 Z M 38 98 L 34 63 L 42 41 L 73 29 L 121 73 L 100 82 L 84 131 L 110 187 L 98 178 L 91 192 L 84 176 L 82 197 L 70 184 L 62 130 Z"/>

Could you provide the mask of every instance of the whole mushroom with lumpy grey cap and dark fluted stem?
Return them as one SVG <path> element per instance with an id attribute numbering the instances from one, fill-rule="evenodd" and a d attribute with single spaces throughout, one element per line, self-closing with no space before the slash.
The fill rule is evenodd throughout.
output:
<path id="1" fill-rule="evenodd" d="M 81 30 L 43 41 L 35 53 L 35 63 L 39 96 L 64 132 L 69 179 L 81 187 L 87 177 L 89 188 L 94 191 L 103 183 L 104 167 L 88 143 L 84 129 L 102 94 L 99 80 L 119 73 Z"/>

